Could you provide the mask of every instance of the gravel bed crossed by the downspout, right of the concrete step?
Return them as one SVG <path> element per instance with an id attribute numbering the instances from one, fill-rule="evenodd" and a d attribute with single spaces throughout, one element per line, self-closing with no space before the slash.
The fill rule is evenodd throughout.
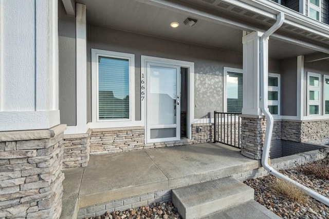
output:
<path id="1" fill-rule="evenodd" d="M 325 168 L 325 167 L 324 167 Z M 328 168 L 328 167 L 326 167 Z M 305 174 L 300 167 L 279 171 L 304 186 L 329 197 L 329 181 Z M 255 190 L 254 200 L 282 218 L 329 218 L 329 208 L 312 197 L 302 203 L 291 202 L 272 188 L 277 178 L 272 175 L 247 180 L 244 183 Z"/>

